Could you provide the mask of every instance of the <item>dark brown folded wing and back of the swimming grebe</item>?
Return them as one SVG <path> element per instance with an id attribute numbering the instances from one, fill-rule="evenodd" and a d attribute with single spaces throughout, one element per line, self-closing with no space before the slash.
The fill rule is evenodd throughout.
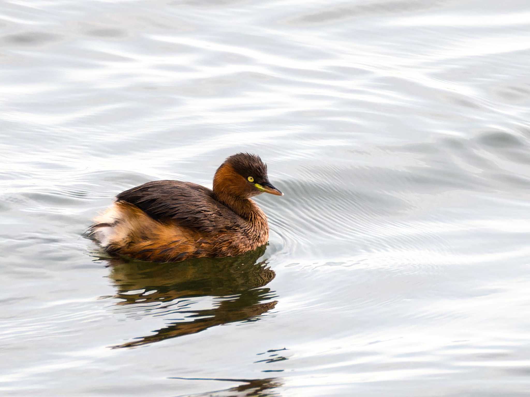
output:
<path id="1" fill-rule="evenodd" d="M 207 233 L 230 230 L 243 221 L 212 194 L 195 183 L 153 181 L 121 192 L 116 198 L 136 205 L 155 220 L 172 219 Z"/>

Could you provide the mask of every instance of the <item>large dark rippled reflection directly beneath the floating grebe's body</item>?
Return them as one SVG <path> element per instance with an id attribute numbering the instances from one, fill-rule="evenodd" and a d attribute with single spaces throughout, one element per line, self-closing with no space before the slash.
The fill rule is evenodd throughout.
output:
<path id="1" fill-rule="evenodd" d="M 265 247 L 231 258 L 191 259 L 153 264 L 109 259 L 110 278 L 117 288 L 117 305 L 134 305 L 142 315 L 179 317 L 153 335 L 113 346 L 133 347 L 189 335 L 234 321 L 255 321 L 273 309 L 274 293 L 263 288 L 274 277 L 265 261 L 257 263 Z M 200 297 L 214 297 L 212 309 L 193 310 Z M 194 300 L 195 299 L 195 300 Z M 126 309 L 126 308 L 123 308 Z"/>

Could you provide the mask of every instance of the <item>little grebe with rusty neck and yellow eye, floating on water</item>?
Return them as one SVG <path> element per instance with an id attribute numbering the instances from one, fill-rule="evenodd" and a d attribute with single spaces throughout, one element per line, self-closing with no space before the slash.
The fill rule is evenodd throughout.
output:
<path id="1" fill-rule="evenodd" d="M 88 236 L 110 254 L 157 262 L 226 257 L 269 240 L 267 216 L 250 197 L 282 196 L 259 156 L 228 157 L 213 190 L 190 182 L 153 181 L 116 196 Z"/>

